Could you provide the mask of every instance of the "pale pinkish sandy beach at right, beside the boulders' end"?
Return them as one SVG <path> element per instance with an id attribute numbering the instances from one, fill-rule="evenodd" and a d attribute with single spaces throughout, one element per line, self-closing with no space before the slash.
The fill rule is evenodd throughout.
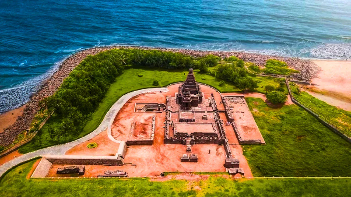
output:
<path id="1" fill-rule="evenodd" d="M 311 83 L 317 86 L 306 86 L 307 92 L 319 100 L 351 111 L 351 61 L 313 60 L 322 70 Z"/>

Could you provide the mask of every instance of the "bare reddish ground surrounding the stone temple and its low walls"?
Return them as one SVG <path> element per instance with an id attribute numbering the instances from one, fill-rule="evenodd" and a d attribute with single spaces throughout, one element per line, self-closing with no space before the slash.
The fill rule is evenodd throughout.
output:
<path id="1" fill-rule="evenodd" d="M 159 176 L 161 172 L 164 171 L 201 171 L 201 172 L 224 172 L 225 168 L 223 166 L 225 160 L 225 151 L 223 145 L 217 144 L 197 144 L 192 146 L 192 153 L 198 154 L 198 162 L 180 162 L 180 157 L 182 154 L 186 153 L 186 146 L 181 144 L 164 144 L 164 121 L 165 113 L 134 113 L 134 104 L 136 102 L 157 102 L 165 103 L 166 95 L 174 96 L 178 91 L 179 84 L 172 85 L 168 87 L 170 90 L 167 93 L 147 93 L 141 94 L 130 99 L 124 107 L 117 114 L 113 126 L 112 135 L 117 140 L 126 140 L 129 131 L 130 124 L 133 118 L 144 118 L 144 116 L 156 115 L 155 119 L 155 137 L 153 145 L 134 145 L 127 148 L 125 162 L 136 164 L 124 165 L 119 167 L 112 166 L 97 166 L 97 165 L 86 165 L 85 177 L 95 177 L 99 174 L 104 174 L 105 170 L 125 170 L 128 172 L 129 177 L 144 177 L 144 176 Z M 205 92 L 213 92 L 215 94 L 215 99 L 217 101 L 218 108 L 224 109 L 223 104 L 219 104 L 221 101 L 220 94 L 215 90 L 202 86 L 202 90 Z M 223 114 L 224 115 L 224 114 Z M 223 120 L 226 120 L 223 116 Z M 125 119 L 125 120 L 123 120 Z M 127 120 L 129 121 L 127 121 Z M 129 129 L 128 129 L 129 127 Z M 227 137 L 229 141 L 233 144 L 237 144 L 237 139 L 231 127 L 225 127 Z M 120 130 L 120 132 L 118 132 Z M 118 133 L 118 134 L 117 134 Z M 100 138 L 101 137 L 101 138 Z M 82 143 L 67 151 L 67 154 L 71 155 L 97 155 L 100 152 L 106 154 L 115 154 L 118 147 L 114 147 L 114 142 L 108 142 L 108 137 L 106 132 L 94 137 L 91 142 L 97 142 L 98 148 L 108 149 L 95 151 L 94 149 L 87 149 L 86 144 L 89 142 Z M 112 144 L 111 144 L 112 143 Z M 111 148 L 115 148 L 110 151 Z M 245 171 L 245 177 L 252 177 L 251 170 L 245 157 L 242 155 L 242 149 L 240 145 L 231 145 L 233 156 L 238 158 L 240 161 L 240 167 Z M 97 150 L 97 149 L 96 149 Z M 210 154 L 209 153 L 210 151 Z M 100 154 L 101 155 L 101 154 Z M 57 176 L 55 172 L 57 168 L 63 167 L 64 165 L 53 165 L 50 170 L 49 177 Z M 67 166 L 67 165 L 66 165 Z M 67 175 L 60 175 L 67 176 Z M 69 176 L 69 175 L 68 175 Z M 238 175 L 240 176 L 240 175 Z"/>

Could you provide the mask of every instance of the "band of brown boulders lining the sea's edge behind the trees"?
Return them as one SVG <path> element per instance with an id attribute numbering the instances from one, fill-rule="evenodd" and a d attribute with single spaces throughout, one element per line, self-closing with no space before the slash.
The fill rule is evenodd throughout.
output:
<path id="1" fill-rule="evenodd" d="M 309 81 L 313 77 L 316 77 L 320 71 L 317 64 L 303 60 L 296 57 L 280 57 L 263 54 L 253 54 L 245 52 L 224 52 L 224 51 L 200 51 L 200 50 L 189 50 L 189 49 L 169 49 L 169 48 L 152 48 L 152 47 L 125 47 L 125 46 L 107 46 L 107 47 L 95 47 L 85 50 L 81 50 L 75 54 L 70 55 L 60 65 L 59 69 L 47 80 L 45 80 L 39 91 L 31 96 L 29 102 L 25 104 L 22 116 L 18 116 L 16 122 L 10 127 L 4 129 L 3 133 L 0 133 L 0 145 L 8 146 L 13 143 L 14 139 L 24 130 L 29 129 L 35 114 L 40 110 L 39 101 L 53 95 L 63 80 L 71 73 L 71 71 L 78 66 L 78 64 L 88 55 L 95 55 L 105 50 L 114 48 L 138 48 L 138 49 L 158 49 L 162 51 L 179 52 L 194 57 L 200 57 L 207 54 L 217 55 L 219 57 L 237 56 L 244 61 L 256 63 L 259 66 L 264 66 L 268 59 L 277 59 L 285 61 L 289 67 L 300 71 L 297 76 L 298 80 Z"/>

